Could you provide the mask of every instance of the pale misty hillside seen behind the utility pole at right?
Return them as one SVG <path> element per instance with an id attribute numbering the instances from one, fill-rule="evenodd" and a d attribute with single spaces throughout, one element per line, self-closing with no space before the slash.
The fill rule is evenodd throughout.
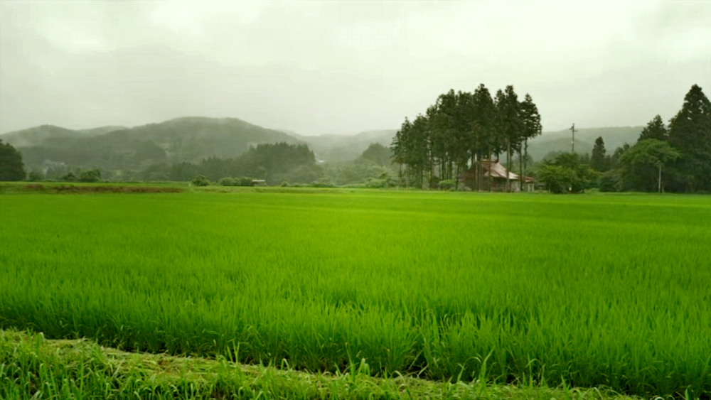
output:
<path id="1" fill-rule="evenodd" d="M 590 153 L 595 140 L 602 136 L 608 154 L 625 143 L 633 145 L 644 126 L 618 126 L 609 128 L 582 128 L 575 132 L 575 152 Z M 543 132 L 528 142 L 528 153 L 540 161 L 551 151 L 570 151 L 570 130 Z"/>

